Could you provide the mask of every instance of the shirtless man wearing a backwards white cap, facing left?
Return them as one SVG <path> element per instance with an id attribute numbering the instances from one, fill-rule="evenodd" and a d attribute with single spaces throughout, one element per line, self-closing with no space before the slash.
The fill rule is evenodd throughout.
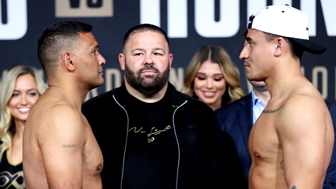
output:
<path id="1" fill-rule="evenodd" d="M 322 188 L 334 129 L 300 59 L 303 50 L 321 54 L 325 48 L 308 40 L 308 16 L 288 5 L 265 7 L 250 22 L 240 58 L 248 80 L 265 81 L 271 99 L 249 137 L 249 188 Z"/>

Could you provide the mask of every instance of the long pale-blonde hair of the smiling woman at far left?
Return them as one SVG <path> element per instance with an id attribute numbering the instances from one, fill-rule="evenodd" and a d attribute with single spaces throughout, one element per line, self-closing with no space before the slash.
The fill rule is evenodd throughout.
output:
<path id="1" fill-rule="evenodd" d="M 13 136 L 15 134 L 15 123 L 9 109 L 9 100 L 13 95 L 16 78 L 21 75 L 30 74 L 35 78 L 37 90 L 40 95 L 48 87 L 43 80 L 43 72 L 37 71 L 34 67 L 16 66 L 2 77 L 0 85 L 0 162 L 6 150 L 12 146 Z"/>

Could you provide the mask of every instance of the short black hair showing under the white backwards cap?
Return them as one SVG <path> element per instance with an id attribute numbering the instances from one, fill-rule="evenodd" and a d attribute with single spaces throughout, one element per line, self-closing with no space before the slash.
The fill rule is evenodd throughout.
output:
<path id="1" fill-rule="evenodd" d="M 252 14 L 249 18 L 249 21 L 250 21 L 250 24 L 252 24 L 253 22 L 253 19 L 254 19 L 254 15 Z M 266 41 L 267 42 L 270 42 L 272 41 L 273 39 L 277 38 L 277 37 L 282 37 L 286 40 L 286 42 L 288 43 L 288 46 L 289 46 L 289 49 L 291 51 L 291 54 L 293 56 L 294 59 L 298 59 L 298 60 L 301 60 L 302 58 L 302 54 L 303 54 L 303 48 L 300 44 L 296 43 L 295 41 L 292 41 L 290 40 L 289 38 L 287 37 L 284 37 L 284 36 L 280 36 L 280 35 L 276 35 L 276 34 L 271 34 L 271 33 L 267 33 L 267 32 L 264 32 L 265 33 L 265 36 L 266 36 Z M 247 33 L 246 33 L 247 35 Z"/>

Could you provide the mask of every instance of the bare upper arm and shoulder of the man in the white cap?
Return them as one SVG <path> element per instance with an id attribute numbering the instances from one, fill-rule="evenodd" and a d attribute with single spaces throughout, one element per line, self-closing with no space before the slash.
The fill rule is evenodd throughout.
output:
<path id="1" fill-rule="evenodd" d="M 323 101 L 306 96 L 290 99 L 279 112 L 277 132 L 290 189 L 320 188 L 326 159 L 326 131 L 331 123 Z M 279 164 L 280 166 L 280 164 Z"/>

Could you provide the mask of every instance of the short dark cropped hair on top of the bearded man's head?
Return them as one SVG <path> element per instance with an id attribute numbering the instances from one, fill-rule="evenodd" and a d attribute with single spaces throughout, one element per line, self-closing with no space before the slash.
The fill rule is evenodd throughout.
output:
<path id="1" fill-rule="evenodd" d="M 165 37 L 168 43 L 168 48 L 169 48 L 168 36 L 163 29 L 161 29 L 158 26 L 152 25 L 152 24 L 140 24 L 140 25 L 132 27 L 126 32 L 124 41 L 123 41 L 123 53 L 125 53 L 125 46 L 126 46 L 126 43 L 129 41 L 129 38 L 131 35 L 136 34 L 136 33 L 147 32 L 147 31 L 161 33 Z"/>

